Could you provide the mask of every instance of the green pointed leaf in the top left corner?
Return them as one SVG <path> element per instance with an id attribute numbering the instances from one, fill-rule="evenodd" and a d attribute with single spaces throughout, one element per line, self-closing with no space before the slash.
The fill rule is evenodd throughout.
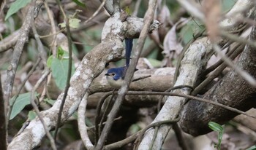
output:
<path id="1" fill-rule="evenodd" d="M 17 0 L 17 1 L 14 1 L 11 4 L 10 9 L 8 10 L 7 15 L 5 16 L 4 20 L 7 20 L 8 17 L 10 17 L 11 15 L 18 12 L 19 9 L 25 7 L 27 4 L 30 3 L 30 1 L 31 0 Z"/>

